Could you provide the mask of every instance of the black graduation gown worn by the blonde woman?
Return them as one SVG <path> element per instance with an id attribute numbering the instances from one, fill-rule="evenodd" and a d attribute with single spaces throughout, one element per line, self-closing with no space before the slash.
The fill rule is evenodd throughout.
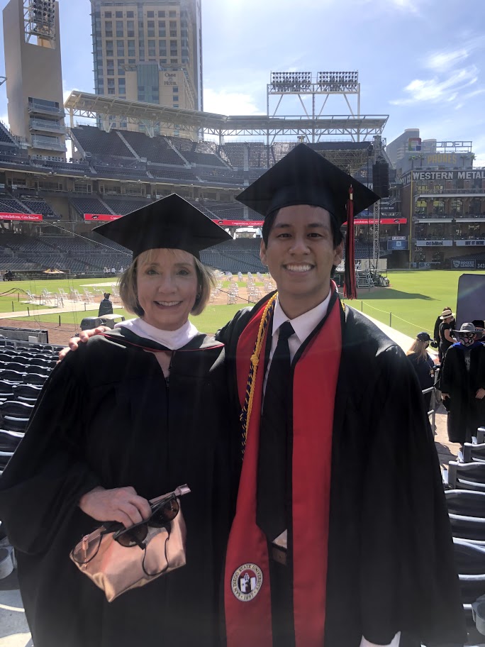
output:
<path id="1" fill-rule="evenodd" d="M 224 350 L 198 335 L 174 352 L 167 387 L 157 344 L 130 331 L 95 337 L 50 375 L 0 479 L 35 647 L 213 647 L 233 516 Z M 216 345 L 216 347 L 214 347 Z M 236 475 L 237 477 L 237 475 Z M 77 506 L 96 485 L 150 499 L 188 483 L 187 564 L 106 602 L 69 551 L 96 526 Z"/>

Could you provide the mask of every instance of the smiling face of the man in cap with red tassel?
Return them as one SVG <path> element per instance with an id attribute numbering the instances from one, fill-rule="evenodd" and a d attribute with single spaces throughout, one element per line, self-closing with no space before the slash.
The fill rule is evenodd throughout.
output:
<path id="1" fill-rule="evenodd" d="M 294 319 L 323 302 L 342 253 L 342 243 L 334 248 L 326 209 L 298 204 L 278 211 L 260 257 L 277 283 L 286 316 Z"/>

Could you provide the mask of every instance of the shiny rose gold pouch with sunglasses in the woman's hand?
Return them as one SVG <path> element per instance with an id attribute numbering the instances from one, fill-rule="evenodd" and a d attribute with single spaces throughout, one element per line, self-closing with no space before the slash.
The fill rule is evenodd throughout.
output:
<path id="1" fill-rule="evenodd" d="M 150 501 L 150 519 L 130 528 L 104 524 L 74 546 L 70 558 L 104 590 L 108 602 L 185 565 L 186 528 L 179 497 L 189 492 L 181 485 Z"/>

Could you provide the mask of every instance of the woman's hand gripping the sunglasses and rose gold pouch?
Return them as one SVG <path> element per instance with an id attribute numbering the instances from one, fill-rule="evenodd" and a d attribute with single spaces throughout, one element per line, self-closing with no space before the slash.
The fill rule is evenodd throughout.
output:
<path id="1" fill-rule="evenodd" d="M 79 499 L 79 507 L 96 521 L 119 521 L 125 528 L 139 524 L 152 514 L 147 499 L 139 497 L 134 487 L 114 490 L 95 487 Z"/>

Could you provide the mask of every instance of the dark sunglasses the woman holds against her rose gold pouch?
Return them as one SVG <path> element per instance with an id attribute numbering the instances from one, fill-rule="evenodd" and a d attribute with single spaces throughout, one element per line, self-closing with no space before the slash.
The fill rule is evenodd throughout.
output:
<path id="1" fill-rule="evenodd" d="M 101 546 L 101 539 L 104 535 L 114 532 L 113 539 L 125 548 L 132 548 L 139 546 L 143 550 L 146 548 L 145 539 L 149 533 L 150 528 L 162 528 L 167 526 L 175 519 L 180 511 L 180 504 L 178 497 L 183 494 L 188 494 L 190 489 L 187 485 L 181 485 L 169 494 L 167 497 L 152 503 L 150 508 L 152 513 L 148 519 L 140 521 L 139 524 L 133 524 L 129 528 L 125 528 L 118 521 L 113 523 L 106 523 L 90 535 L 85 536 L 82 541 L 74 548 L 72 558 L 78 564 L 87 564 L 94 559 Z"/>

